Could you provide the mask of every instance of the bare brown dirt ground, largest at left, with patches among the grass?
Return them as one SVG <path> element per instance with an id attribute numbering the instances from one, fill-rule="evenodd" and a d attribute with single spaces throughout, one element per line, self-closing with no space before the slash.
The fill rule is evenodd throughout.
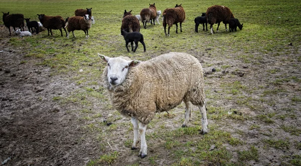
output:
<path id="1" fill-rule="evenodd" d="M 3 31 L 0 31 L 3 32 Z M 6 31 L 5 31 L 6 32 Z M 5 34 L 1 34 L 5 35 Z M 7 35 L 6 35 L 7 36 Z M 24 57 L 22 49 L 13 47 L 9 43 L 8 37 L 2 37 L 0 40 L 0 161 L 7 161 L 6 165 L 85 165 L 90 159 L 97 159 L 99 154 L 99 142 L 94 141 L 93 137 L 89 137 L 90 132 L 84 130 L 82 126 L 85 121 L 80 121 L 76 114 L 70 114 L 68 110 L 75 110 L 79 107 L 76 103 L 60 105 L 58 102 L 52 100 L 53 97 L 69 96 L 72 92 L 80 87 L 74 84 L 73 81 L 68 80 L 64 75 L 52 75 L 49 66 L 36 65 L 35 59 L 31 57 Z M 288 47 L 289 49 L 289 47 Z M 192 51 L 193 52 L 193 51 Z M 201 62 L 213 61 L 214 57 L 195 53 Z M 269 114 L 289 108 L 294 110 L 286 113 L 294 114 L 293 118 L 285 118 L 285 120 L 274 119 L 275 123 L 266 124 L 256 118 L 246 121 L 216 121 L 208 119 L 209 124 L 219 124 L 223 126 L 221 130 L 225 130 L 233 134 L 233 136 L 246 141 L 247 145 L 256 142 L 256 148 L 259 150 L 259 161 L 247 161 L 250 165 L 280 165 L 282 160 L 288 159 L 281 156 L 300 155 L 300 149 L 295 148 L 295 144 L 301 142 L 301 137 L 291 135 L 279 129 L 279 126 L 293 125 L 300 129 L 300 103 L 291 105 L 291 98 L 300 97 L 300 82 L 289 81 L 281 85 L 281 88 L 286 91 L 276 95 L 267 96 L 267 100 L 274 101 L 274 104 L 267 105 L 256 100 L 253 105 L 264 108 L 264 112 L 256 112 L 247 107 L 237 105 L 235 103 L 228 103 L 220 93 L 221 85 L 225 82 L 233 82 L 239 80 L 249 88 L 254 88 L 254 93 L 251 97 L 258 99 L 263 90 L 258 90 L 258 86 L 262 85 L 265 90 L 273 90 L 275 87 L 269 85 L 268 82 L 275 80 L 275 75 L 269 74 L 268 70 L 277 69 L 277 75 L 291 75 L 296 78 L 301 78 L 300 61 L 296 61 L 300 57 L 301 50 L 292 52 L 290 55 L 283 56 L 266 56 L 263 59 L 254 59 L 254 61 L 261 61 L 258 65 L 251 63 L 244 64 L 239 60 L 231 60 L 231 66 L 225 70 L 212 72 L 212 67 L 205 67 L 206 75 L 206 89 L 211 95 L 221 97 L 218 103 L 214 103 L 215 107 L 224 107 L 226 109 L 237 109 L 242 114 L 255 117 L 261 114 Z M 282 59 L 290 57 L 294 59 L 291 65 Z M 21 63 L 26 59 L 27 63 Z M 229 64 L 225 61 L 215 61 L 213 67 Z M 223 77 L 223 79 L 220 79 Z M 215 99 L 209 99 L 215 100 Z M 175 114 L 181 114 L 174 119 L 167 120 L 166 124 L 170 129 L 180 127 L 178 124 L 172 123 L 178 119 L 183 119 L 183 109 L 176 109 Z M 196 108 L 194 108 L 196 110 Z M 100 110 L 101 112 L 101 110 Z M 104 116 L 107 113 L 101 112 Z M 282 113 L 279 113 L 282 114 Z M 285 111 L 283 111 L 285 114 Z M 99 120 L 102 120 L 101 118 Z M 128 118 L 122 118 L 122 122 L 129 122 Z M 261 126 L 260 130 L 250 130 L 252 124 Z M 129 127 L 129 126 L 128 126 Z M 270 129 L 273 128 L 272 131 Z M 210 129 L 210 127 L 209 127 Z M 118 131 L 120 134 L 116 136 L 122 142 L 125 138 L 122 133 L 126 132 L 128 128 L 123 131 Z M 244 134 L 237 134 L 237 130 Z M 147 129 L 147 133 L 154 132 L 154 128 Z M 262 134 L 265 133 L 265 134 Z M 202 137 L 201 135 L 198 137 Z M 264 148 L 261 141 L 263 138 L 287 139 L 291 143 L 289 149 L 275 149 Z M 84 138 L 84 139 L 82 139 Z M 112 138 L 112 139 L 115 139 Z M 184 139 L 184 138 L 183 138 Z M 189 139 L 187 137 L 187 139 Z M 156 146 L 156 140 L 149 142 L 150 145 L 149 156 L 152 152 L 162 154 L 157 157 L 157 164 L 168 165 L 173 163 L 164 156 L 166 149 L 160 149 Z M 138 151 L 131 152 L 128 147 L 124 145 L 112 145 L 113 149 L 120 151 L 118 159 L 112 165 L 127 165 L 133 164 L 137 161 L 141 165 L 147 165 L 147 159 L 140 159 L 137 157 Z M 239 147 L 239 150 L 247 150 L 246 145 Z M 233 151 L 233 160 L 237 160 L 237 149 L 227 147 Z"/>

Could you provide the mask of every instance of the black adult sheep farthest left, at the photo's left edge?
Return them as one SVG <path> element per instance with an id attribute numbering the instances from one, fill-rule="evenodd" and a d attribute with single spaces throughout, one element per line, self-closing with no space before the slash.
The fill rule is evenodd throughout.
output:
<path id="1" fill-rule="evenodd" d="M 10 15 L 10 12 L 3 13 L 2 19 L 3 19 L 4 25 L 6 27 L 8 27 L 8 29 L 10 31 L 10 35 L 12 35 L 10 27 L 13 27 L 15 32 L 16 32 L 16 27 L 18 27 L 19 29 L 24 31 L 24 15 L 23 14 L 11 14 Z"/>

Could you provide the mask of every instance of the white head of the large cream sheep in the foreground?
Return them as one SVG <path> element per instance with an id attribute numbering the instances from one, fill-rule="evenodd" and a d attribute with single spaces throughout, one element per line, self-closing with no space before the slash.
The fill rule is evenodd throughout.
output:
<path id="1" fill-rule="evenodd" d="M 108 65 L 107 79 L 112 87 L 121 85 L 128 70 L 131 67 L 136 67 L 140 63 L 138 60 L 126 60 L 119 57 L 110 58 L 101 54 L 98 54 L 98 56 Z"/>

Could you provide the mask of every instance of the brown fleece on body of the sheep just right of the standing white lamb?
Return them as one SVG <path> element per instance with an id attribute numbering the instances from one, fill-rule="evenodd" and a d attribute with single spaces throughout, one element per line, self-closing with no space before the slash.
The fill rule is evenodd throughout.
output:
<path id="1" fill-rule="evenodd" d="M 186 19 L 185 11 L 183 7 L 169 8 L 163 11 L 164 21 L 163 27 L 168 25 L 172 27 L 173 24 L 182 23 Z"/>

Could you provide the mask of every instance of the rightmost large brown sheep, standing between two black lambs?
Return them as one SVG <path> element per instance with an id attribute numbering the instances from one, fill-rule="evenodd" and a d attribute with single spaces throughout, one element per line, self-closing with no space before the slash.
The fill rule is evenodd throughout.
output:
<path id="1" fill-rule="evenodd" d="M 232 14 L 231 10 L 228 7 L 220 5 L 209 7 L 206 12 L 206 19 L 208 24 L 210 24 L 211 34 L 214 33 L 213 24 L 218 24 L 216 29 L 216 31 L 218 32 L 218 27 L 221 22 L 225 24 L 226 31 L 228 31 L 227 23 L 231 18 L 234 18 L 234 15 Z"/>

